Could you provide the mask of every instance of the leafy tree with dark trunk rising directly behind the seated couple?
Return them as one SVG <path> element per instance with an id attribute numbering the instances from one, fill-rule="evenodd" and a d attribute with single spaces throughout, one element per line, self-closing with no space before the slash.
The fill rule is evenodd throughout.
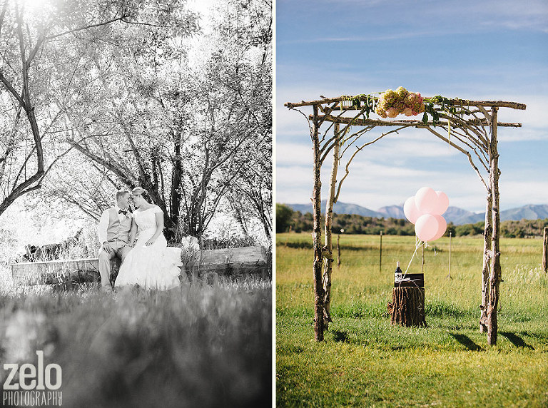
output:
<path id="1" fill-rule="evenodd" d="M 171 118 L 176 107 L 166 100 L 180 93 L 177 83 L 187 48 L 183 40 L 198 31 L 197 18 L 181 1 L 163 1 L 154 8 L 141 4 L 131 13 L 134 24 L 103 28 L 82 39 L 77 52 L 83 64 L 77 74 L 85 80 L 74 83 L 70 101 L 59 101 L 66 120 L 59 131 L 71 130 L 65 132 L 66 142 L 86 158 L 93 177 L 87 189 L 73 191 L 83 172 L 72 173 L 68 180 L 57 178 L 51 191 L 97 214 L 110 205 L 108 200 L 96 203 L 99 184 L 101 190 L 141 185 L 164 210 L 166 232 L 173 238 L 178 216 L 170 206 L 166 161 L 180 144 L 176 133 L 181 123 Z M 66 161 L 62 173 L 71 165 Z M 90 204 L 96 208 L 91 210 Z"/>

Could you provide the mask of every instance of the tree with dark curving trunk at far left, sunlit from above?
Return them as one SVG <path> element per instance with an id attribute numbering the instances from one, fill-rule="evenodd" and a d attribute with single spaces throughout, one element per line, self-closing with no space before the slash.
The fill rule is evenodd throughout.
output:
<path id="1" fill-rule="evenodd" d="M 58 117 L 49 111 L 49 85 L 62 80 L 53 74 L 53 45 L 127 18 L 118 1 L 50 1 L 41 10 L 26 10 L 19 1 L 1 5 L 0 214 L 16 198 L 40 188 L 48 162 L 54 161 L 43 134 Z"/>

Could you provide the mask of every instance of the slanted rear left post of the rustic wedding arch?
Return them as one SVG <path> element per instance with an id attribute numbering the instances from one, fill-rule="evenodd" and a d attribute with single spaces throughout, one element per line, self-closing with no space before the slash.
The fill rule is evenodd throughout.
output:
<path id="1" fill-rule="evenodd" d="M 339 136 L 339 124 L 335 123 L 334 126 L 335 137 Z M 337 170 L 339 166 L 339 148 L 340 143 L 335 141 L 335 147 L 333 148 L 333 164 L 331 165 L 331 177 L 329 179 L 329 193 L 328 202 L 325 204 L 325 253 L 326 259 L 323 271 L 323 308 L 325 315 L 323 319 L 323 325 L 325 330 L 329 327 L 330 317 L 330 305 L 331 305 L 331 273 L 333 272 L 333 240 L 331 235 L 331 225 L 333 220 L 333 204 L 335 204 L 335 185 L 337 183 Z"/>

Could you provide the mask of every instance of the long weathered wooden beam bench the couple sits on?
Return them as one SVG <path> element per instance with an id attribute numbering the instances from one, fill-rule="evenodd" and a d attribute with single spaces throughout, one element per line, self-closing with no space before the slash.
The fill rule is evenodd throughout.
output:
<path id="1" fill-rule="evenodd" d="M 203 275 L 259 274 L 265 277 L 269 268 L 263 247 L 198 250 L 181 253 L 181 272 L 201 277 Z M 97 282 L 97 258 L 76 260 L 50 260 L 21 262 L 11 265 L 11 276 L 16 285 L 48 285 L 64 282 Z M 111 261 L 113 275 L 119 268 L 117 258 Z"/>

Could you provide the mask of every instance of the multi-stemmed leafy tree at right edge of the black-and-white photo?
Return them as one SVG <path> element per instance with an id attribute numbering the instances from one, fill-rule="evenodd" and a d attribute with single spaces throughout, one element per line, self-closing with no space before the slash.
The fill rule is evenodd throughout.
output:
<path id="1" fill-rule="evenodd" d="M 272 191 L 271 3 L 220 2 L 209 58 L 196 75 L 198 158 L 183 173 L 183 230 L 200 237 L 221 200 L 270 236 Z M 189 188 L 190 187 L 190 188 Z M 244 223 L 242 223 L 244 224 Z M 243 228 L 245 230 L 245 227 Z"/>

